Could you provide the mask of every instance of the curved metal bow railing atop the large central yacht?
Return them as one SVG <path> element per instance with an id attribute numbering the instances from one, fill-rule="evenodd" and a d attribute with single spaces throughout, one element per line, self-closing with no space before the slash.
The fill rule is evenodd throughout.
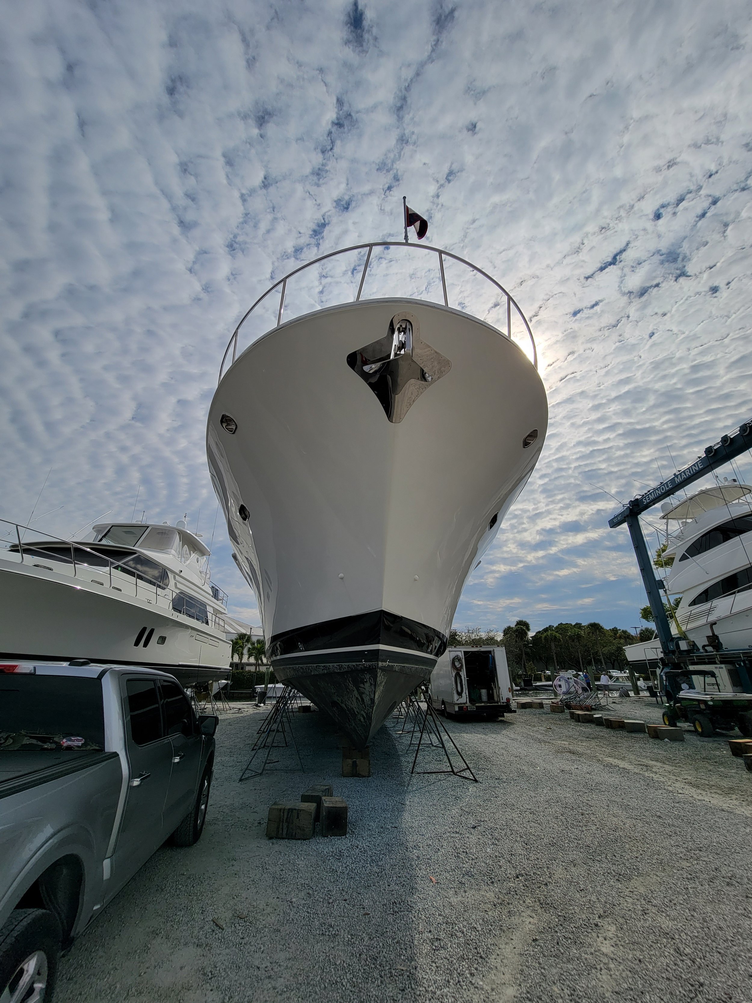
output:
<path id="1" fill-rule="evenodd" d="M 232 350 L 232 358 L 230 365 L 233 365 L 236 358 L 238 357 L 241 328 L 249 319 L 249 317 L 254 313 L 257 307 L 261 306 L 261 304 L 264 303 L 265 300 L 267 300 L 267 297 L 271 296 L 272 293 L 275 293 L 277 291 L 279 291 L 280 293 L 279 307 L 277 309 L 277 322 L 276 324 L 273 323 L 272 327 L 267 329 L 267 330 L 273 330 L 275 327 L 279 327 L 280 324 L 282 324 L 283 315 L 285 313 L 285 308 L 289 296 L 288 283 L 290 282 L 291 279 L 295 278 L 296 276 L 299 276 L 302 272 L 305 272 L 307 269 L 311 269 L 317 265 L 321 265 L 322 262 L 328 262 L 333 258 L 339 258 L 342 255 L 348 255 L 348 254 L 358 254 L 362 258 L 362 254 L 365 252 L 365 261 L 363 262 L 362 265 L 362 271 L 360 269 L 360 262 L 359 262 L 355 267 L 348 270 L 349 279 L 347 277 L 343 279 L 343 284 L 346 286 L 350 284 L 350 281 L 354 277 L 357 277 L 357 274 L 360 272 L 358 291 L 354 297 L 352 296 L 352 292 L 354 292 L 354 285 L 351 285 L 350 287 L 351 295 L 343 299 L 341 298 L 343 294 L 338 292 L 336 295 L 339 295 L 340 299 L 336 300 L 336 302 L 333 303 L 322 304 L 320 302 L 321 299 L 320 295 L 318 295 L 316 298 L 309 296 L 307 305 L 310 306 L 312 309 L 304 310 L 302 311 L 302 313 L 310 313 L 315 310 L 322 310 L 325 309 L 326 307 L 340 305 L 343 303 L 352 303 L 352 302 L 358 303 L 360 302 L 363 296 L 363 290 L 366 284 L 366 279 L 369 276 L 369 274 L 373 274 L 374 271 L 374 267 L 371 264 L 374 248 L 384 248 L 386 251 L 399 250 L 400 252 L 402 249 L 406 248 L 410 251 L 427 251 L 430 254 L 436 255 L 438 259 L 437 278 L 440 278 L 441 295 L 445 307 L 450 306 L 449 303 L 450 296 L 447 288 L 446 265 L 445 265 L 445 262 L 447 260 L 449 262 L 455 262 L 458 265 L 463 266 L 465 269 L 469 269 L 470 272 L 473 273 L 474 275 L 479 276 L 480 278 L 486 280 L 486 282 L 490 283 L 491 286 L 494 287 L 495 293 L 492 301 L 488 304 L 487 309 L 485 310 L 486 314 L 485 317 L 481 317 L 479 313 L 476 313 L 474 310 L 471 310 L 467 307 L 463 299 L 461 283 L 459 284 L 459 295 L 457 295 L 456 297 L 452 295 L 451 297 L 453 300 L 456 300 L 456 303 L 452 305 L 455 306 L 455 308 L 458 310 L 463 310 L 466 313 L 470 313 L 472 316 L 478 317 L 480 320 L 486 321 L 486 323 L 490 323 L 491 326 L 494 327 L 502 337 L 508 338 L 510 341 L 515 341 L 517 336 L 521 335 L 523 343 L 525 341 L 528 341 L 529 343 L 530 360 L 537 369 L 537 352 L 535 349 L 535 342 L 532 338 L 532 331 L 530 331 L 530 325 L 527 323 L 527 319 L 525 318 L 522 311 L 519 309 L 519 306 L 517 305 L 516 301 L 511 296 L 511 294 L 507 292 L 507 290 L 504 289 L 504 287 L 499 282 L 496 282 L 496 280 L 492 278 L 492 276 L 488 275 L 487 272 L 484 272 L 482 268 L 478 268 L 477 265 L 473 265 L 465 258 L 460 258 L 459 255 L 452 254 L 451 251 L 444 251 L 441 248 L 434 248 L 431 247 L 431 245 L 429 244 L 401 244 L 399 242 L 394 242 L 394 241 L 374 241 L 370 244 L 355 244 L 352 247 L 342 248 L 339 251 L 332 251 L 329 254 L 322 255 L 320 258 L 315 258 L 313 261 L 309 261 L 305 265 L 301 265 L 299 268 L 293 269 L 292 272 L 288 272 L 288 274 L 283 276 L 283 278 L 281 278 L 278 282 L 275 282 L 273 286 L 271 286 L 262 296 L 259 297 L 259 299 L 253 304 L 251 309 L 244 314 L 244 316 L 241 318 L 240 323 L 233 332 L 233 336 L 228 342 L 228 347 L 225 350 L 225 355 L 223 356 L 222 359 L 222 365 L 220 366 L 220 380 L 222 380 L 222 377 L 225 374 L 225 364 L 228 361 L 228 356 L 230 355 L 231 350 Z M 369 266 L 371 266 L 371 273 L 369 273 Z M 331 281 L 331 277 L 324 277 L 324 278 L 327 279 L 328 281 Z M 417 286 L 419 284 L 420 284 L 419 281 L 416 281 L 415 285 Z M 432 283 L 430 279 L 427 282 L 423 282 L 422 289 L 418 290 L 418 293 L 424 294 L 428 292 L 430 294 L 431 285 Z M 338 286 L 337 288 L 339 290 L 341 286 Z M 454 292 L 454 290 L 452 290 L 452 292 Z M 388 286 L 384 290 L 384 293 L 386 296 L 399 295 L 397 293 L 390 293 Z M 498 293 L 501 294 L 500 298 L 497 295 Z M 374 299 L 376 297 L 369 296 L 366 298 Z M 478 299 L 478 298 L 473 296 L 473 299 Z M 438 302 L 438 300 L 436 302 Z M 506 328 L 505 331 L 501 330 L 501 328 L 497 324 L 493 324 L 486 319 L 488 314 L 497 311 L 499 308 L 501 308 L 502 314 L 505 314 L 505 317 L 502 317 L 502 323 L 503 320 L 505 320 L 505 328 Z M 298 313 L 294 314 L 293 316 L 300 316 L 300 315 L 301 314 Z M 518 328 L 520 324 L 521 324 L 521 331 L 515 330 L 515 328 Z M 250 345 L 253 340 L 255 340 L 255 338 L 253 336 L 250 336 L 248 343 L 244 345 L 244 348 L 248 347 L 248 345 Z M 523 351 L 525 351 L 525 354 L 527 354 L 527 350 L 525 348 L 523 348 Z"/>

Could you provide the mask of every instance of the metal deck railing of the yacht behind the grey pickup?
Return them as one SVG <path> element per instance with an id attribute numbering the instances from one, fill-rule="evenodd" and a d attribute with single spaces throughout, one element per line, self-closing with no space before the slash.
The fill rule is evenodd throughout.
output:
<path id="1" fill-rule="evenodd" d="M 4 529 L 6 527 L 8 529 Z M 23 538 L 27 532 L 33 533 L 35 539 L 24 543 Z M 40 537 L 44 539 L 39 539 Z M 50 547 L 59 548 L 60 544 L 64 545 L 64 548 L 70 549 L 69 558 L 67 554 L 63 557 L 64 551 L 58 555 L 54 551 L 45 549 Z M 206 620 L 201 619 L 199 616 L 194 616 L 192 613 L 185 612 L 189 609 L 187 605 L 183 604 L 182 610 L 175 609 L 173 606 L 174 600 L 178 596 L 189 596 L 195 602 L 206 605 L 205 600 L 199 596 L 194 596 L 182 590 L 171 589 L 169 586 L 161 585 L 155 579 L 149 578 L 149 576 L 144 575 L 135 568 L 128 568 L 128 562 L 133 561 L 140 555 L 133 554 L 124 560 L 112 561 L 105 557 L 103 553 L 94 551 L 78 541 L 53 537 L 48 533 L 40 533 L 39 530 L 33 530 L 31 527 L 24 526 L 22 523 L 11 523 L 5 519 L 0 519 L 0 555 L 6 560 L 12 561 L 18 559 L 18 564 L 30 565 L 33 568 L 41 568 L 45 571 L 53 571 L 60 575 L 69 575 L 71 578 L 76 578 L 92 585 L 98 585 L 102 588 L 109 588 L 113 592 L 119 592 L 122 595 L 143 599 L 146 603 L 155 605 L 160 609 L 169 610 L 170 613 L 174 613 L 176 616 L 183 616 L 187 620 L 204 624 L 207 627 L 213 627 L 215 630 L 221 632 L 225 630 L 224 618 L 209 607 L 207 607 L 207 616 L 209 618 L 209 623 L 207 623 Z M 86 563 L 86 557 L 91 558 L 91 564 Z M 42 562 L 44 561 L 49 561 L 50 564 L 43 564 Z M 50 565 L 54 565 L 55 567 L 50 567 Z M 104 581 L 101 581 L 97 576 L 101 576 L 101 579 L 104 579 Z M 218 589 L 218 592 L 222 592 L 222 590 Z M 222 593 L 222 595 L 225 596 L 225 593 Z M 222 602 L 222 598 L 217 597 L 216 601 Z M 225 596 L 225 601 L 227 601 L 227 596 Z"/>

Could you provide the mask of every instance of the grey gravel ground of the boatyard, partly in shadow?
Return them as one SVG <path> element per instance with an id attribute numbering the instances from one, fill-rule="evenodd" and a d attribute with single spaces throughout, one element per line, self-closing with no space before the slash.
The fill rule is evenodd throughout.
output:
<path id="1" fill-rule="evenodd" d="M 305 775 L 283 749 L 239 783 L 264 713 L 222 715 L 201 842 L 162 848 L 111 903 L 58 1003 L 752 998 L 752 774 L 724 739 L 522 710 L 449 722 L 480 783 L 408 784 L 392 725 L 373 775 L 345 779 L 314 712 L 294 718 Z M 269 805 L 317 782 L 347 799 L 348 837 L 267 840 Z"/>

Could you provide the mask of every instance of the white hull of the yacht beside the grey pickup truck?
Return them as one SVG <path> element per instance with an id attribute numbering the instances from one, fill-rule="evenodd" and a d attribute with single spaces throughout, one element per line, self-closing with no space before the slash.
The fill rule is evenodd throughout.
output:
<path id="1" fill-rule="evenodd" d="M 0 658 L 137 664 L 166 669 L 183 685 L 226 678 L 224 634 L 160 608 L 142 591 L 143 598 L 117 595 L 80 575 L 0 559 Z"/>

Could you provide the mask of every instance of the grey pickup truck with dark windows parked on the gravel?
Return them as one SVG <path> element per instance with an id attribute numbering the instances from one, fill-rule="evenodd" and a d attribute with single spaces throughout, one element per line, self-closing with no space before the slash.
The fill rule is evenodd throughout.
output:
<path id="1" fill-rule="evenodd" d="M 207 817 L 218 719 L 175 679 L 0 664 L 0 1001 L 49 1003 L 60 952 Z"/>

